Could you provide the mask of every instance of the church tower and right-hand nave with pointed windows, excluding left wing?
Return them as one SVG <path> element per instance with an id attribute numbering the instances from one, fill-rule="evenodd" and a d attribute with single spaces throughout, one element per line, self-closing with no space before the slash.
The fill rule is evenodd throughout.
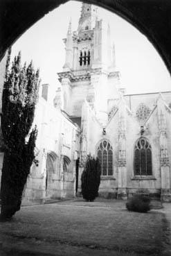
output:
<path id="1" fill-rule="evenodd" d="M 90 4 L 82 4 L 78 31 L 70 23 L 64 43 L 58 76 L 64 111 L 80 126 L 79 173 L 91 153 L 101 163 L 101 196 L 142 189 L 171 200 L 171 93 L 124 94 L 109 24 Z"/>

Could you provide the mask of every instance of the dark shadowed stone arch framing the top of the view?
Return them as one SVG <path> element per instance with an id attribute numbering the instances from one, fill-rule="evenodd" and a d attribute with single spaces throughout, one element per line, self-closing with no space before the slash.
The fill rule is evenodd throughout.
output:
<path id="1" fill-rule="evenodd" d="M 1 0 L 0 58 L 30 26 L 66 1 Z M 152 42 L 171 73 L 170 0 L 87 0 L 85 2 L 115 12 L 138 28 Z"/>

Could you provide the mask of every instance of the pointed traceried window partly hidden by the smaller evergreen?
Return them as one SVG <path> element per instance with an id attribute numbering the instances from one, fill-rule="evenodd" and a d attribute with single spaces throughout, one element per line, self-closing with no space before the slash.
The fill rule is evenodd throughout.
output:
<path id="1" fill-rule="evenodd" d="M 113 175 L 113 148 L 106 139 L 100 142 L 97 156 L 100 161 L 102 176 Z"/>

